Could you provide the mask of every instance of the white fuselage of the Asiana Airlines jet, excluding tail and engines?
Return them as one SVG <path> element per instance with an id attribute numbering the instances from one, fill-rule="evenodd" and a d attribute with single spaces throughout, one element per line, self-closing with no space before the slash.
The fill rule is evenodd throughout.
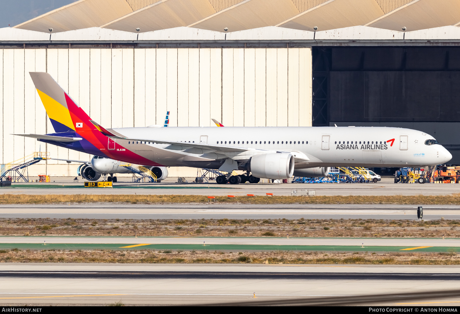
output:
<path id="1" fill-rule="evenodd" d="M 452 155 L 421 131 L 387 127 L 168 127 L 119 128 L 113 131 L 126 138 L 117 143 L 164 166 L 197 166 L 231 158 L 238 162 L 268 152 L 291 152 L 295 168 L 329 166 L 407 167 L 447 163 Z M 153 144 L 155 140 L 242 147 L 242 152 Z M 125 151 L 116 151 L 127 161 Z M 209 167 L 211 168 L 211 167 Z"/>

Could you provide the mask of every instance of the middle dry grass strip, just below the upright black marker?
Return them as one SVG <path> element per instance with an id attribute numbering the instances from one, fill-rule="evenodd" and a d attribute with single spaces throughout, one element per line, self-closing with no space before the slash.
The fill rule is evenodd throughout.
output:
<path id="1" fill-rule="evenodd" d="M 460 237 L 457 220 L 0 219 L 0 236 Z"/>

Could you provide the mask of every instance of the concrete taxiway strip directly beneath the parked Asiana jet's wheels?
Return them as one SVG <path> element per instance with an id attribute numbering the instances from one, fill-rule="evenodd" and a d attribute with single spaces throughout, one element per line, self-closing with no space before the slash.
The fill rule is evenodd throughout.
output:
<path id="1" fill-rule="evenodd" d="M 63 186 L 64 185 L 64 186 Z M 0 194 L 181 194 L 222 196 L 274 193 L 290 196 L 292 190 L 315 190 L 318 196 L 332 195 L 449 195 L 460 192 L 457 184 L 395 184 L 388 178 L 378 183 L 315 183 L 315 184 L 241 184 L 218 185 L 197 183 L 115 183 L 114 188 L 85 188 L 83 183 L 15 183 L 11 188 L 0 189 Z"/>

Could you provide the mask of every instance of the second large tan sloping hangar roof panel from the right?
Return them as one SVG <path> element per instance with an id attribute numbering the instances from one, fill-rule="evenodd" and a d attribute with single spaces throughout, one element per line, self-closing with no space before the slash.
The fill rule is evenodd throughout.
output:
<path id="1" fill-rule="evenodd" d="M 329 0 L 276 26 L 322 31 L 363 25 L 384 14 L 375 0 Z"/>

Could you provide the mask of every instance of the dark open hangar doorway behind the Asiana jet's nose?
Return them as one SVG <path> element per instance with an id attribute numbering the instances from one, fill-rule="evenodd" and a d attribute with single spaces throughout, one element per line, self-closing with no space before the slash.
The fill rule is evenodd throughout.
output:
<path id="1" fill-rule="evenodd" d="M 434 136 L 460 164 L 460 47 L 313 47 L 313 126 Z"/>

